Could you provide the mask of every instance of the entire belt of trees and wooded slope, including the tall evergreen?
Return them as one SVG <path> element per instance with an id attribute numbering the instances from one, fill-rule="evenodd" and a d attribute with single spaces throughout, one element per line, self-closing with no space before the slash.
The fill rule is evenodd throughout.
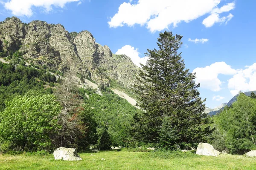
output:
<path id="1" fill-rule="evenodd" d="M 158 49 L 148 49 L 149 60 L 132 89 L 137 107 L 109 87 L 101 88 L 102 95 L 90 86 L 79 88 L 79 74 L 70 69 L 57 79 L 22 60 L 0 62 L 0 153 L 111 146 L 191 150 L 200 142 L 232 154 L 256 149 L 255 94 L 241 92 L 218 115 L 204 113 L 200 84 L 178 52 L 181 39 L 160 33 Z M 12 60 L 17 54 L 1 56 Z"/>

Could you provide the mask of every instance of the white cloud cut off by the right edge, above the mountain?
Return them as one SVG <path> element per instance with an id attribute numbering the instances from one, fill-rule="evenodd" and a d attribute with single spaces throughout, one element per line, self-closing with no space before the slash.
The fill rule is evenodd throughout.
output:
<path id="1" fill-rule="evenodd" d="M 237 95 L 239 91 L 256 90 L 256 63 L 251 66 L 245 66 L 245 68 L 239 69 L 236 75 L 228 81 L 228 88 L 232 95 Z"/>

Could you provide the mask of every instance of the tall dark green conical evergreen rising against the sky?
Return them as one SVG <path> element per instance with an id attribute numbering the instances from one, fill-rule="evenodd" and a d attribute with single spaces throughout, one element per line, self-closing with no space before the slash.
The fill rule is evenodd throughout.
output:
<path id="1" fill-rule="evenodd" d="M 149 50 L 148 61 L 134 85 L 139 106 L 132 133 L 140 141 L 169 149 L 195 147 L 212 133 L 212 123 L 204 113 L 195 74 L 185 68 L 178 49 L 182 36 L 160 33 L 158 50 Z"/>

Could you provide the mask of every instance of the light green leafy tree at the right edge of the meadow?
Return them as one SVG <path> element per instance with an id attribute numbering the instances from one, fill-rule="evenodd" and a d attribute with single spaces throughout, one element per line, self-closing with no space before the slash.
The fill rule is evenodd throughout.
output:
<path id="1" fill-rule="evenodd" d="M 216 116 L 216 124 L 223 131 L 225 146 L 230 153 L 244 154 L 256 149 L 256 101 L 239 94 L 232 107 Z"/>

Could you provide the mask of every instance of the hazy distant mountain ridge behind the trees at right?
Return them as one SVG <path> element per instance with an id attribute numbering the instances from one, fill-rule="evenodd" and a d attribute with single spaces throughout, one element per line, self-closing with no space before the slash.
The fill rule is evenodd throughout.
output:
<path id="1" fill-rule="evenodd" d="M 250 96 L 250 94 L 254 92 L 256 94 L 256 91 L 251 91 L 251 92 L 244 92 L 245 95 L 247 96 Z M 204 112 L 208 113 L 208 115 L 216 115 L 217 113 L 221 112 L 221 110 L 225 107 L 225 106 L 228 106 L 230 107 L 235 101 L 237 101 L 237 96 L 239 94 L 235 95 L 233 98 L 231 98 L 231 100 L 228 102 L 228 103 L 224 103 L 224 104 L 221 104 L 220 106 L 214 108 L 214 109 L 211 109 L 209 107 L 205 107 L 205 110 Z"/>

